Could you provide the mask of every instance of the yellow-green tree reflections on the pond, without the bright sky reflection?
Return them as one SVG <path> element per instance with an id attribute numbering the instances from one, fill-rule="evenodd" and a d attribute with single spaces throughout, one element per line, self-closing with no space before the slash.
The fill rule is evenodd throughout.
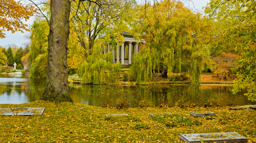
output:
<path id="1" fill-rule="evenodd" d="M 36 101 L 43 93 L 45 86 L 44 80 L 30 79 L 21 85 L 1 85 L 0 93 L 6 92 L 11 95 L 12 91 L 17 94 L 22 92 L 29 98 L 29 101 Z M 139 102 L 146 100 L 152 105 L 175 103 L 192 104 L 203 106 L 208 101 L 220 102 L 222 105 L 235 103 L 243 105 L 248 103 L 247 98 L 241 94 L 242 90 L 236 95 L 232 95 L 229 86 L 212 86 L 212 85 L 148 85 L 148 86 L 122 86 L 122 85 L 79 85 L 70 84 L 70 95 L 74 102 L 86 103 L 94 106 L 102 106 L 104 103 L 115 107 L 117 99 L 125 96 L 131 103 L 131 107 L 138 107 Z"/>

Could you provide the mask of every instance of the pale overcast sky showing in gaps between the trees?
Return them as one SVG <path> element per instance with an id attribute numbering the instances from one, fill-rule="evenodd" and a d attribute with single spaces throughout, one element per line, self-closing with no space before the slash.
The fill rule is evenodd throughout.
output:
<path id="1" fill-rule="evenodd" d="M 193 3 L 194 5 L 193 5 Z M 199 10 L 199 12 L 203 13 L 202 7 L 205 7 L 210 0 L 192 0 L 189 3 L 186 3 L 185 6 L 190 8 L 196 8 Z M 32 24 L 33 23 L 33 17 L 31 17 L 27 22 L 24 22 L 25 24 Z M 24 47 L 26 42 L 29 42 L 29 39 L 26 39 L 26 35 L 29 35 L 30 33 L 27 31 L 24 31 L 24 33 L 21 32 L 15 32 L 11 33 L 10 31 L 4 32 L 6 34 L 6 38 L 0 39 L 0 45 L 3 47 L 6 47 L 8 44 L 16 44 L 18 47 Z"/>

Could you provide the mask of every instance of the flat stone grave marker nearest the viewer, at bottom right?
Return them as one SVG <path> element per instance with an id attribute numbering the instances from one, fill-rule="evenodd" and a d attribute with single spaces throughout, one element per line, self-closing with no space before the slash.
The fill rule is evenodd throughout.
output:
<path id="1" fill-rule="evenodd" d="M 247 138 L 237 134 L 236 132 L 226 132 L 226 133 L 202 133 L 202 134 L 181 134 L 179 139 L 187 143 L 200 143 L 204 142 L 216 142 L 223 143 L 226 142 L 247 142 Z"/>

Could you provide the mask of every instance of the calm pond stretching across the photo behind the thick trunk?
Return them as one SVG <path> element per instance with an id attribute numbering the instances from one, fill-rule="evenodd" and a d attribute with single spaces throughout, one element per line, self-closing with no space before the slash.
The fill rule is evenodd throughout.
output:
<path id="1" fill-rule="evenodd" d="M 31 79 L 26 75 L 0 74 L 0 104 L 21 104 L 36 101 L 42 95 L 45 79 Z M 232 85 L 79 85 L 69 84 L 70 96 L 76 103 L 94 106 L 117 103 L 129 107 L 179 105 L 251 105 L 246 90 L 233 95 Z"/>

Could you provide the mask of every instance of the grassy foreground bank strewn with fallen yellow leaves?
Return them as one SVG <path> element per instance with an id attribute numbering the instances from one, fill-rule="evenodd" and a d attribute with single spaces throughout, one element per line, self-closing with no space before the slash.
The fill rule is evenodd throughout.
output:
<path id="1" fill-rule="evenodd" d="M 36 101 L 0 104 L 9 107 L 45 107 L 42 116 L 0 117 L 0 143 L 3 142 L 182 142 L 180 134 L 237 132 L 256 142 L 256 110 L 230 111 L 218 108 L 128 108 L 115 109 L 82 103 Z M 192 117 L 191 111 L 211 111 L 216 117 Z M 174 115 L 149 117 L 149 113 Z M 105 114 L 128 114 L 110 117 Z"/>

